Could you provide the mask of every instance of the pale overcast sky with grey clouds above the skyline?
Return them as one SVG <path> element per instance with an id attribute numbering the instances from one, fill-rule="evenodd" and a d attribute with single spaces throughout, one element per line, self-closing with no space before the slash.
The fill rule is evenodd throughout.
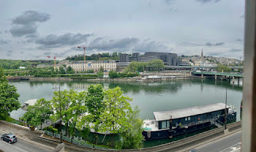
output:
<path id="1" fill-rule="evenodd" d="M 0 0 L 0 58 L 92 53 L 244 56 L 244 1 Z"/>

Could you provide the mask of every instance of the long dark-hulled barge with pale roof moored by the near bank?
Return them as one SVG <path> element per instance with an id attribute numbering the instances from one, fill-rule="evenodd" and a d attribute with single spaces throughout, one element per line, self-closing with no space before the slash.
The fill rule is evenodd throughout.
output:
<path id="1" fill-rule="evenodd" d="M 188 107 L 178 110 L 153 112 L 154 120 L 145 120 L 143 136 L 146 140 L 172 138 L 209 127 L 221 127 L 225 123 L 236 121 L 236 110 L 223 103 Z"/>

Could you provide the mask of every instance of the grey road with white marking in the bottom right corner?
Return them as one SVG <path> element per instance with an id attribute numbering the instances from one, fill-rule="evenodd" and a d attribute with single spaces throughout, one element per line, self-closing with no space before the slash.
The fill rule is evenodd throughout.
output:
<path id="1" fill-rule="evenodd" d="M 241 131 L 230 134 L 195 148 L 196 152 L 239 152 L 241 151 Z"/>

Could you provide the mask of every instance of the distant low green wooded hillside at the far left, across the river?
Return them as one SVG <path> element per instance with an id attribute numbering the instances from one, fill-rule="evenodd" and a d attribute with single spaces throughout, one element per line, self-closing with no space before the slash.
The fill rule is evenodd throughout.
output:
<path id="1" fill-rule="evenodd" d="M 38 64 L 53 64 L 50 60 L 8 60 L 0 59 L 0 66 L 4 69 L 19 69 L 20 66 L 31 68 Z"/>

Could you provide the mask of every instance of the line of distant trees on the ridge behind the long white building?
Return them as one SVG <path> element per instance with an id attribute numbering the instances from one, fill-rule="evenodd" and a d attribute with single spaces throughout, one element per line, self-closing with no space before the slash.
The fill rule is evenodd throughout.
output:
<path id="1" fill-rule="evenodd" d="M 69 61 L 83 61 L 84 56 L 82 54 L 75 56 L 68 56 L 66 60 Z M 91 56 L 86 56 L 86 60 L 94 60 L 94 61 L 108 61 L 108 60 L 118 60 L 118 53 L 98 53 L 92 54 Z"/>

